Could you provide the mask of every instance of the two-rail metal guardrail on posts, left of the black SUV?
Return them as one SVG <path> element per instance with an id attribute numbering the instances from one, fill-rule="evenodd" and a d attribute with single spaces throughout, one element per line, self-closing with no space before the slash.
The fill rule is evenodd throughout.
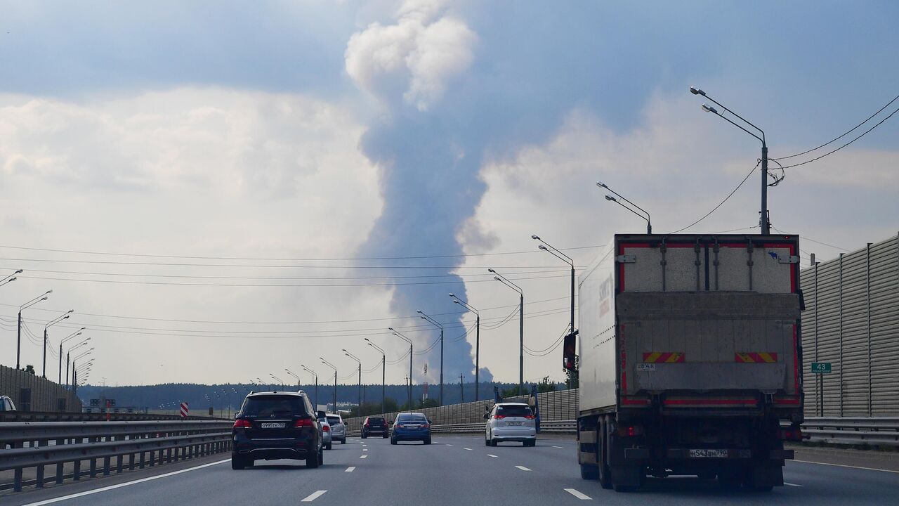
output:
<path id="1" fill-rule="evenodd" d="M 13 470 L 13 490 L 22 491 L 23 470 L 34 467 L 33 483 L 43 487 L 50 478 L 46 465 L 56 465 L 52 477 L 63 483 L 71 477 L 78 481 L 85 474 L 82 461 L 88 461 L 90 477 L 97 475 L 97 460 L 102 458 L 102 474 L 111 474 L 112 457 L 119 474 L 126 465 L 154 466 L 198 456 L 229 451 L 230 421 L 82 421 L 82 422 L 9 422 L 0 424 L 0 471 Z M 137 461 L 137 462 L 136 462 Z M 73 463 L 71 474 L 64 465 Z M 8 487 L 7 487 L 8 488 Z"/>

